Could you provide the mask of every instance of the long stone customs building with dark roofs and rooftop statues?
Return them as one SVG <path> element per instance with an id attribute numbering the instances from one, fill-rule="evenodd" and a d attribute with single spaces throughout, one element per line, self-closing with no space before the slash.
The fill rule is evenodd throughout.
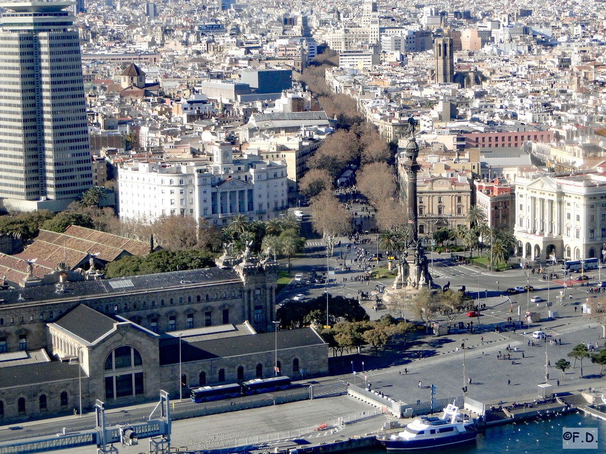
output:
<path id="1" fill-rule="evenodd" d="M 217 268 L 0 291 L 0 424 L 173 397 L 189 387 L 273 377 L 278 265 Z M 265 334 L 264 334 L 265 333 Z M 179 338 L 181 369 L 179 377 Z M 328 372 L 311 327 L 278 332 L 278 366 Z M 296 371 L 296 372 L 295 372 Z"/>

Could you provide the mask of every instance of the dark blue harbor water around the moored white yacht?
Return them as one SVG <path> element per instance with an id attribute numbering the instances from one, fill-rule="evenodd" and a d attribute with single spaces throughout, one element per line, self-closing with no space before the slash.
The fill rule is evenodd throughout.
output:
<path id="1" fill-rule="evenodd" d="M 582 452 L 606 452 L 606 421 L 582 412 L 545 419 L 528 419 L 514 424 L 488 427 L 479 433 L 476 444 L 451 449 L 424 450 L 431 454 L 539 454 L 574 452 L 562 447 L 564 429 L 598 429 L 598 448 Z M 385 454 L 382 448 L 364 450 L 364 454 Z M 360 452 L 362 454 L 362 451 Z"/>

